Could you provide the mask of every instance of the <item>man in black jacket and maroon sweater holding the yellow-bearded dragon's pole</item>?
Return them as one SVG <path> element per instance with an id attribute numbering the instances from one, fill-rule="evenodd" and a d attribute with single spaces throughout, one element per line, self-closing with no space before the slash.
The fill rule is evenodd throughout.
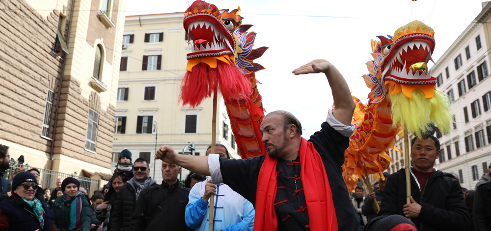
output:
<path id="1" fill-rule="evenodd" d="M 405 170 L 400 169 L 388 177 L 379 217 L 406 216 L 418 231 L 467 231 L 470 215 L 459 182 L 433 168 L 440 155 L 440 143 L 433 133 L 411 141 L 411 204 L 406 203 Z"/>

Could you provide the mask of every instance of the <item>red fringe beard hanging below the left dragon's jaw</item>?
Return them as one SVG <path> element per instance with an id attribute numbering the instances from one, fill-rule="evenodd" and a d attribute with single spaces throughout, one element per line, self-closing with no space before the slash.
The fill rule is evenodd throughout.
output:
<path id="1" fill-rule="evenodd" d="M 223 98 L 250 99 L 252 88 L 240 69 L 217 61 L 217 68 L 210 68 L 205 63 L 197 64 L 192 71 L 187 71 L 181 82 L 179 95 L 183 105 L 196 107 L 205 97 L 210 97 L 219 88 Z"/>

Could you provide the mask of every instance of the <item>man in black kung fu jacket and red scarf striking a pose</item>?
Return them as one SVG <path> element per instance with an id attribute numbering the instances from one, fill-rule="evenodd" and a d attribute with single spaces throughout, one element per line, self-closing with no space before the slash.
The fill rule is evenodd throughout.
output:
<path id="1" fill-rule="evenodd" d="M 351 124 L 355 104 L 348 85 L 326 60 L 314 60 L 293 72 L 325 73 L 336 106 L 309 141 L 301 137 L 301 124 L 294 115 L 275 111 L 261 124 L 266 156 L 247 160 L 184 156 L 164 145 L 156 158 L 211 175 L 214 184 L 225 183 L 244 196 L 255 206 L 255 231 L 359 231 L 359 216 L 341 169 L 355 129 Z"/>

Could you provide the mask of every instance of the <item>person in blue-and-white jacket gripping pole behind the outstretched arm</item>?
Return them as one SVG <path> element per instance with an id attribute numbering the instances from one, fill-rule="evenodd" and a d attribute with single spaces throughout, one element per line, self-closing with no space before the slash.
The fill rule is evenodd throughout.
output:
<path id="1" fill-rule="evenodd" d="M 208 155 L 211 146 L 206 151 Z M 217 144 L 217 154 L 230 159 L 224 146 Z M 186 225 L 195 231 L 208 231 L 211 196 L 215 195 L 213 213 L 214 231 L 252 231 L 254 227 L 254 207 L 244 197 L 228 185 L 213 185 L 210 179 L 197 183 L 189 193 L 186 206 Z"/>

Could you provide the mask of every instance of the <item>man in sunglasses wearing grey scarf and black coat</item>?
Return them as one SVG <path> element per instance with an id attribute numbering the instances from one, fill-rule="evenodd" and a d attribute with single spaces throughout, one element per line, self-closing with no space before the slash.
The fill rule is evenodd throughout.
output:
<path id="1" fill-rule="evenodd" d="M 157 182 L 148 176 L 150 168 L 148 161 L 138 158 L 133 164 L 133 178 L 123 185 L 116 196 L 112 209 L 111 231 L 130 231 L 131 216 L 135 210 L 136 198 L 147 187 L 157 185 Z M 183 214 L 184 219 L 184 214 Z"/>

